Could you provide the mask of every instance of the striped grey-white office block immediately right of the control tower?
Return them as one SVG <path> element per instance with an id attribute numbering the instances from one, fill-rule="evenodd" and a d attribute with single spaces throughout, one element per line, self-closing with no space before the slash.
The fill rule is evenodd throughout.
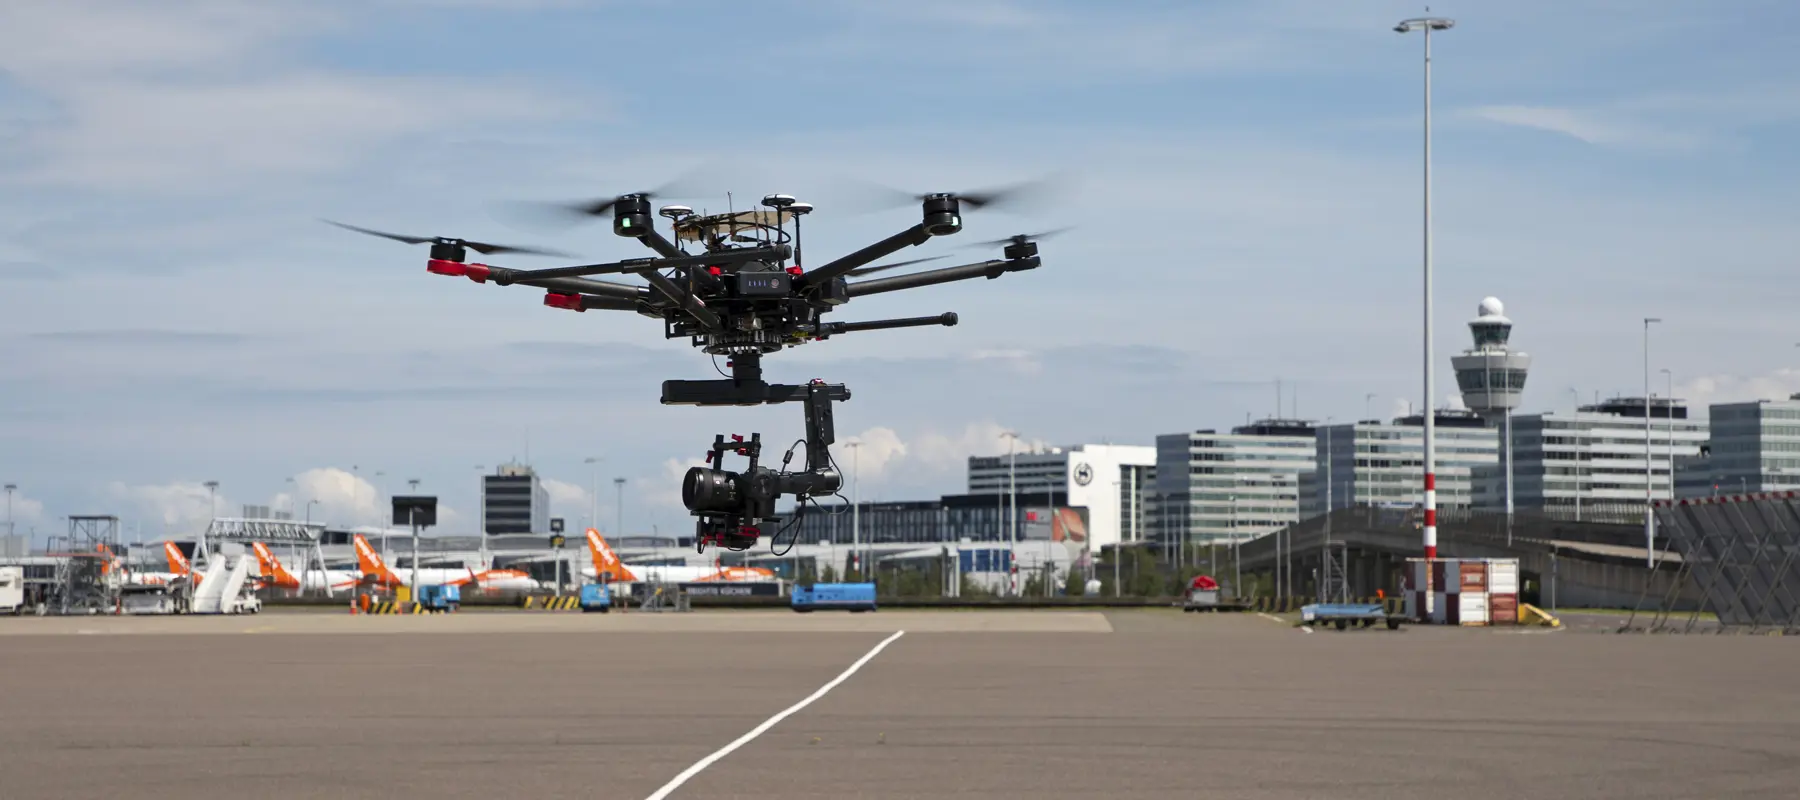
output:
<path id="1" fill-rule="evenodd" d="M 1670 499 L 1676 468 L 1692 468 L 1708 443 L 1706 422 L 1690 420 L 1687 405 L 1674 398 L 1649 400 L 1649 443 L 1643 414 L 1645 398 L 1622 396 L 1580 405 L 1573 414 L 1514 416 L 1516 508 L 1571 521 L 1643 523 L 1645 470 L 1649 497 Z M 1498 467 L 1481 470 L 1481 508 L 1505 508 L 1503 481 Z"/>

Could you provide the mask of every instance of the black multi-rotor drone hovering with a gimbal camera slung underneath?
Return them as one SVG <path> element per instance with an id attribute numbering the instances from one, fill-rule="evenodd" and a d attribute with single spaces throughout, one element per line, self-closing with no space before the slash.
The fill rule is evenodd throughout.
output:
<path id="1" fill-rule="evenodd" d="M 812 270 L 801 267 L 801 220 L 814 207 L 790 195 L 767 195 L 760 209 L 715 214 L 695 213 L 688 205 L 662 205 L 655 214 L 670 220 L 673 241 L 655 229 L 650 200 L 657 193 L 639 191 L 610 200 L 569 204 L 563 209 L 580 216 L 610 213 L 614 234 L 637 240 L 657 256 L 538 270 L 473 263 L 468 259 L 468 252 L 484 256 L 567 254 L 461 238 L 403 236 L 326 222 L 371 236 L 430 245 L 425 268 L 437 276 L 468 277 L 497 286 L 542 288 L 545 306 L 569 312 L 614 310 L 661 319 L 664 339 L 686 337 L 704 353 L 727 359 L 731 373 L 725 378 L 664 380 L 664 405 L 805 404 L 805 470 L 788 472 L 792 449 L 779 470 L 760 467 L 761 434 L 751 434 L 749 441 L 733 434 L 729 440 L 716 436 L 707 452 L 709 467 L 689 468 L 682 479 L 682 501 L 698 519 L 698 550 L 706 551 L 707 544 L 749 550 L 763 535 L 758 523 L 778 519 L 774 503 L 779 495 L 796 495 L 801 512 L 805 512 L 812 497 L 837 494 L 842 486 L 842 477 L 830 454 L 830 445 L 835 441 L 832 402 L 850 400 L 850 389 L 842 384 L 826 384 L 824 380 L 810 380 L 801 386 L 765 382 L 763 355 L 841 333 L 954 326 L 958 323 L 954 312 L 855 323 L 828 323 L 823 317 L 855 297 L 976 277 L 992 281 L 1008 272 L 1037 268 L 1040 265 L 1037 241 L 1066 229 L 970 245 L 1001 247 L 1001 258 L 860 279 L 947 258 L 932 256 L 869 267 L 873 261 L 907 247 L 961 232 L 965 207 L 988 207 L 1015 193 L 1017 189 L 909 195 L 909 200 L 920 204 L 922 218 L 916 225 Z M 689 252 L 688 245 L 695 245 L 697 252 Z M 637 276 L 646 285 L 599 281 L 592 276 Z M 724 456 L 727 452 L 747 456 L 749 468 L 745 472 L 725 470 Z"/>

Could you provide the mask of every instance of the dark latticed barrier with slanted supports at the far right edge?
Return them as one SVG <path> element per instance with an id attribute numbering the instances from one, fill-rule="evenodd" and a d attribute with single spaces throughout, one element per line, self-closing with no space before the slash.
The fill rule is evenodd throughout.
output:
<path id="1" fill-rule="evenodd" d="M 1717 632 L 1800 632 L 1800 492 L 1685 499 L 1656 505 L 1656 528 L 1681 555 L 1670 591 L 1643 622 L 1624 629 L 1692 632 L 1699 611 L 1676 620 L 1676 595 L 1688 580 Z M 1667 553 L 1667 551 L 1665 551 Z M 1649 584 L 1645 582 L 1645 595 Z M 1638 607 L 1651 598 L 1640 600 Z M 1712 625 L 1706 625 L 1712 629 Z"/>

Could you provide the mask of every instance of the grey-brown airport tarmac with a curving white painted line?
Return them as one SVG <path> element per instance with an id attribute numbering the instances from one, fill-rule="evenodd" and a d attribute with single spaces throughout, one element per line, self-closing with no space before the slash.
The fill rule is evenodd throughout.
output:
<path id="1" fill-rule="evenodd" d="M 1800 784 L 1800 641 L 1773 636 L 1305 632 L 1174 611 L 265 613 L 0 634 L 16 634 L 0 638 L 7 798 L 1643 800 Z"/>

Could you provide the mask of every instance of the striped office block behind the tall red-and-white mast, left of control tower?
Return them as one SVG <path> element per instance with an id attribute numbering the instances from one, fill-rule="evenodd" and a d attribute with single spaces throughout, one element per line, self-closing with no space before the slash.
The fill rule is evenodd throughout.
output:
<path id="1" fill-rule="evenodd" d="M 1499 461 L 1499 431 L 1474 411 L 1438 409 L 1438 508 L 1474 506 L 1474 470 Z M 1319 468 L 1301 476 L 1303 519 L 1350 506 L 1415 506 L 1426 488 L 1426 416 L 1327 425 L 1318 436 Z"/>

